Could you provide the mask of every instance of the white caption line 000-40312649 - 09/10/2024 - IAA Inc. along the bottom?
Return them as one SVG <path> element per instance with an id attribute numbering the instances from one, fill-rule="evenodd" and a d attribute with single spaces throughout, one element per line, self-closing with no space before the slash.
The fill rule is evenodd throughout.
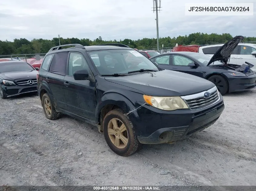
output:
<path id="1" fill-rule="evenodd" d="M 159 190 L 157 186 L 93 186 L 93 190 Z"/>

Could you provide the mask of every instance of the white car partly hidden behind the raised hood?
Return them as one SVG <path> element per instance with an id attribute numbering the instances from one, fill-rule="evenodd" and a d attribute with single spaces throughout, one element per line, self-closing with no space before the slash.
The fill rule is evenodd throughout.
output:
<path id="1" fill-rule="evenodd" d="M 198 53 L 213 56 L 224 44 L 215 44 L 199 47 Z M 256 44 L 239 43 L 230 56 L 229 63 L 242 65 L 249 62 L 254 65 L 252 70 L 256 71 Z"/>

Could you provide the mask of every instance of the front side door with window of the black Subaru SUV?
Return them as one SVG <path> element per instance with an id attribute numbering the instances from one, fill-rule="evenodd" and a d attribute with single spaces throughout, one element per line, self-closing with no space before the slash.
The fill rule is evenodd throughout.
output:
<path id="1" fill-rule="evenodd" d="M 86 69 L 90 75 L 87 80 L 75 80 L 74 72 Z M 95 120 L 96 96 L 95 81 L 85 57 L 78 52 L 70 52 L 68 74 L 64 78 L 64 91 L 67 111 L 85 119 Z"/>

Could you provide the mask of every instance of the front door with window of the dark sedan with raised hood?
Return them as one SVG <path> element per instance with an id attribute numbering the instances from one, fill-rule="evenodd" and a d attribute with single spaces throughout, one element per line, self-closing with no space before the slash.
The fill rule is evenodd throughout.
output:
<path id="1" fill-rule="evenodd" d="M 189 63 L 195 62 L 185 56 L 172 55 L 172 70 L 202 77 L 201 66 L 188 66 Z"/>

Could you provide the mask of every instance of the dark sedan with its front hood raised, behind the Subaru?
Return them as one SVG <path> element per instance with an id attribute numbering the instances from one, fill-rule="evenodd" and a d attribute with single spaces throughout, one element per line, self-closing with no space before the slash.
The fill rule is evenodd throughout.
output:
<path id="1" fill-rule="evenodd" d="M 254 65 L 228 64 L 231 53 L 244 37 L 236 36 L 221 46 L 212 56 L 193 52 L 171 52 L 154 56 L 160 68 L 184 72 L 213 82 L 222 95 L 230 92 L 251 90 L 256 87 Z"/>

